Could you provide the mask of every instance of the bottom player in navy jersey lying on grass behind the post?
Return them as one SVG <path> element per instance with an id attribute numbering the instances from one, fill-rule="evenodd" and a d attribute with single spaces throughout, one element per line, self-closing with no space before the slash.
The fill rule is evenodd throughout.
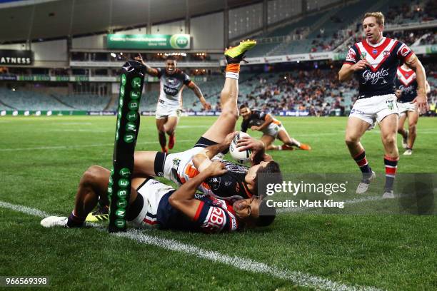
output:
<path id="1" fill-rule="evenodd" d="M 204 180 L 223 175 L 223 163 L 214 162 L 178 190 L 153 178 L 134 178 L 126 220 L 136 228 L 220 233 L 242 230 L 245 227 L 267 226 L 275 218 L 274 208 L 256 196 L 234 203 L 197 196 L 196 189 Z M 45 228 L 80 228 L 99 197 L 107 195 L 110 171 L 98 165 L 91 166 L 79 183 L 74 210 L 69 217 L 49 216 L 41 220 Z"/>

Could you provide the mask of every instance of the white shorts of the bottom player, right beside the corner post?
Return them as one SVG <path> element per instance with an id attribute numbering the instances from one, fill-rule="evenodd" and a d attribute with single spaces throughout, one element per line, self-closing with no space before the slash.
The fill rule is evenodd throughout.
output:
<path id="1" fill-rule="evenodd" d="M 129 223 L 134 228 L 156 228 L 158 226 L 156 214 L 158 213 L 159 201 L 171 190 L 174 190 L 174 188 L 169 185 L 154 179 L 147 180 L 137 190 L 138 195 L 141 195 L 144 199 L 143 208 L 139 215 Z"/>

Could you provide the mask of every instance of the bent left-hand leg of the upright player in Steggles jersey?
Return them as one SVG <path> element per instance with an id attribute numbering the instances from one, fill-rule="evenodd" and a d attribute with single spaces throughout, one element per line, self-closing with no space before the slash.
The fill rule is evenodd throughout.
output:
<path id="1" fill-rule="evenodd" d="M 366 159 L 366 151 L 360 142 L 361 136 L 363 136 L 370 126 L 370 123 L 353 116 L 348 118 L 348 124 L 346 126 L 346 146 L 348 146 L 349 153 L 351 153 L 353 160 L 355 160 L 363 174 L 363 179 L 358 185 L 358 188 L 356 188 L 356 193 L 358 194 L 366 193 L 368 184 L 371 182 L 371 179 L 374 178 L 374 173 Z"/>

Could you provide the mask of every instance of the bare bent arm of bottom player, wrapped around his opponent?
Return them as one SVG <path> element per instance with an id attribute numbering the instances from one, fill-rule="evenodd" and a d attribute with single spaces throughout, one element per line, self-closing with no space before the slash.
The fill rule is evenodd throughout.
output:
<path id="1" fill-rule="evenodd" d="M 181 187 L 170 196 L 169 203 L 176 208 L 176 210 L 184 213 L 188 218 L 194 219 L 196 210 L 200 205 L 200 201 L 194 198 L 197 188 L 201 183 L 204 183 L 206 179 L 223 175 L 224 173 L 226 173 L 226 168 L 223 163 L 211 163 L 211 165 L 199 173 L 199 175 L 196 175 L 196 177 L 190 179 L 184 185 L 181 185 Z"/>

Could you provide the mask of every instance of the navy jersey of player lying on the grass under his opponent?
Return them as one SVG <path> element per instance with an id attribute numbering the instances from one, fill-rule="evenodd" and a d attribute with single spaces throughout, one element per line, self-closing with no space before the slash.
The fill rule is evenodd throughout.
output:
<path id="1" fill-rule="evenodd" d="M 190 220 L 169 203 L 172 192 L 167 193 L 159 202 L 156 220 L 160 228 L 174 230 L 201 231 L 204 233 L 221 233 L 235 231 L 239 223 L 231 203 L 211 196 L 196 197 L 200 201 L 193 220 Z"/>

